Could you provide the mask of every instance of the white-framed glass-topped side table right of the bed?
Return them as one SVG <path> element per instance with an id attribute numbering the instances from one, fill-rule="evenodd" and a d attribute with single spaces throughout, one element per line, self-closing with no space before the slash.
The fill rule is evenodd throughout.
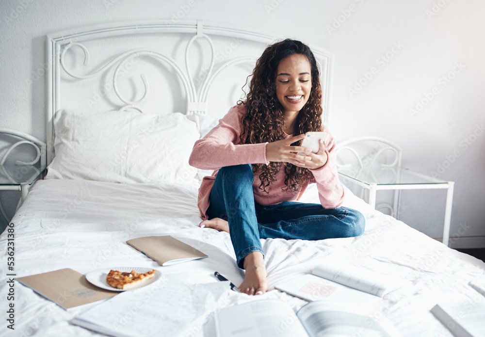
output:
<path id="1" fill-rule="evenodd" d="M 369 204 L 375 209 L 375 194 L 379 190 L 420 190 L 420 189 L 446 189 L 445 222 L 443 227 L 443 243 L 448 246 L 450 238 L 450 221 L 453 203 L 453 181 L 444 181 L 429 177 L 402 167 L 357 169 L 339 168 L 339 175 L 345 180 L 369 190 Z M 394 210 L 399 212 L 400 193 L 394 194 Z M 397 215 L 396 215 L 397 218 Z"/>

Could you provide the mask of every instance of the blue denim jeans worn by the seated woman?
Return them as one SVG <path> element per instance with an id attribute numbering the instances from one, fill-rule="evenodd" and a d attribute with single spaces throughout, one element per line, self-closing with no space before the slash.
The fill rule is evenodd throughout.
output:
<path id="1" fill-rule="evenodd" d="M 229 234 L 242 268 L 244 257 L 264 252 L 259 239 L 323 240 L 348 238 L 364 232 L 364 216 L 355 209 L 324 209 L 320 204 L 282 202 L 262 206 L 254 201 L 254 174 L 249 164 L 219 170 L 210 192 L 209 219 L 229 223 Z"/>

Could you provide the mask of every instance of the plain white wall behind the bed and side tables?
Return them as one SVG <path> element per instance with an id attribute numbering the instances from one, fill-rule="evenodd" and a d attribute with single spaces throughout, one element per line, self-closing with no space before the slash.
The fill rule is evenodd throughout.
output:
<path id="1" fill-rule="evenodd" d="M 0 127 L 41 140 L 50 32 L 105 21 L 198 18 L 327 48 L 335 53 L 329 113 L 337 140 L 388 138 L 403 147 L 403 166 L 455 181 L 451 246 L 485 247 L 483 1 L 3 0 L 0 13 Z M 366 74 L 367 83 L 351 93 Z M 433 97 L 412 112 L 426 96 Z M 445 194 L 406 191 L 401 219 L 440 237 Z M 12 216 L 18 193 L 0 197 Z"/>

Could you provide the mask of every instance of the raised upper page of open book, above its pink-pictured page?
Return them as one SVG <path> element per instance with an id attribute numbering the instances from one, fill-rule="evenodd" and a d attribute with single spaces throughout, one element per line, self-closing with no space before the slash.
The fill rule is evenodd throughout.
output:
<path id="1" fill-rule="evenodd" d="M 409 281 L 351 264 L 321 263 L 313 269 L 313 274 L 379 297 L 409 284 Z"/>

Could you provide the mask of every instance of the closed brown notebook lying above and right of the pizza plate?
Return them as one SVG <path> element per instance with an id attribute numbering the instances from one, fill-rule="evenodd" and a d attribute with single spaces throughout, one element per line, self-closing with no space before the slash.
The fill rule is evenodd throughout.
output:
<path id="1" fill-rule="evenodd" d="M 157 261 L 162 266 L 207 257 L 194 247 L 179 241 L 170 235 L 146 236 L 126 241 L 131 247 L 139 250 L 147 257 Z"/>

